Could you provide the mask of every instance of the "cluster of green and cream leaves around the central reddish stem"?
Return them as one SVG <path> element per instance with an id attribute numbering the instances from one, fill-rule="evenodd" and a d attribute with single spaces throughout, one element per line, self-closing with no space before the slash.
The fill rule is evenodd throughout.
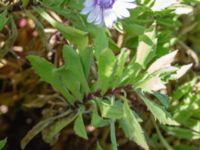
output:
<path id="1" fill-rule="evenodd" d="M 41 9 L 37 8 L 37 11 L 45 14 L 42 15 L 44 18 L 49 18 L 49 15 L 42 12 Z M 56 26 L 53 20 L 51 21 L 50 18 L 47 20 L 50 21 L 51 25 L 60 30 L 60 27 Z M 169 105 L 168 100 L 165 96 L 156 92 L 165 88 L 164 82 L 170 79 L 169 75 L 173 75 L 179 70 L 178 68 L 174 70 L 175 67 L 171 66 L 176 53 L 174 52 L 163 56 L 150 65 L 150 62 L 156 57 L 157 53 L 155 23 L 138 37 L 139 41 L 136 57 L 132 57 L 130 51 L 125 49 L 122 49 L 121 52 L 116 55 L 108 45 L 106 33 L 103 30 L 101 32 L 97 31 L 98 28 L 95 27 L 91 27 L 91 29 L 92 30 L 89 32 L 94 36 L 94 52 L 91 48 L 85 48 L 85 46 L 78 47 L 79 49 L 77 50 L 73 49 L 72 46 L 64 46 L 64 64 L 59 68 L 55 68 L 54 65 L 37 56 L 29 56 L 29 61 L 35 71 L 40 75 L 41 79 L 50 83 L 71 105 L 77 101 L 84 102 L 83 98 L 87 97 L 90 92 L 99 91 L 97 96 L 94 96 L 92 99 L 87 99 L 87 101 L 95 100 L 92 105 L 93 107 L 90 108 L 92 109 L 91 124 L 95 127 L 104 127 L 110 124 L 113 149 L 117 148 L 114 133 L 116 130 L 116 122 L 119 122 L 126 137 L 135 141 L 144 149 L 148 149 L 144 131 L 138 122 L 136 117 L 138 115 L 136 112 L 132 112 L 127 100 L 123 100 L 124 98 L 117 99 L 113 103 L 109 92 L 112 93 L 111 96 L 115 97 L 115 94 L 116 96 L 118 94 L 121 95 L 121 93 L 117 93 L 117 88 L 121 88 L 126 93 L 125 87 L 130 86 L 131 90 L 137 91 L 137 94 L 155 119 L 159 120 L 159 122 L 164 125 L 178 125 L 165 110 L 165 107 Z M 62 30 L 60 31 L 62 32 Z M 97 31 L 97 34 L 94 34 L 94 31 Z M 67 32 L 65 32 L 65 34 L 68 35 Z M 69 35 L 71 35 L 71 33 L 69 33 Z M 79 39 L 82 38 L 83 37 L 79 37 Z M 100 39 L 103 40 L 99 41 Z M 77 41 L 73 41 L 73 39 L 69 38 L 69 40 L 72 40 L 72 43 L 75 45 L 82 45 Z M 127 59 L 131 59 L 131 61 L 127 62 Z M 90 69 L 92 67 L 92 61 L 94 63 L 94 60 L 96 60 L 96 66 L 93 67 L 96 68 L 97 79 L 94 78 L 94 84 L 89 84 L 88 77 L 92 77 L 90 75 Z M 170 66 L 173 71 L 171 71 L 172 69 L 168 66 Z M 184 73 L 188 69 L 184 69 Z M 181 77 L 182 74 L 177 78 Z M 148 96 L 144 94 L 145 91 L 158 98 L 163 106 L 151 101 Z M 106 99 L 104 98 L 105 96 Z M 121 96 L 124 97 L 123 95 Z M 85 105 L 88 103 L 87 101 Z M 84 104 L 82 105 L 84 106 Z M 100 110 L 101 116 L 99 116 L 98 110 Z M 84 111 L 78 114 L 74 123 L 74 131 L 78 136 L 88 139 L 83 122 L 83 114 Z M 60 129 L 66 126 L 67 123 L 64 123 Z M 57 131 L 60 131 L 60 129 Z"/>

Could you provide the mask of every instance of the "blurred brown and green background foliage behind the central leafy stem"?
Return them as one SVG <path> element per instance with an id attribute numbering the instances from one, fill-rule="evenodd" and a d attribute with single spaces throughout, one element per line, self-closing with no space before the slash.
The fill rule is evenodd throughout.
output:
<path id="1" fill-rule="evenodd" d="M 180 126 L 157 124 L 137 100 L 134 109 L 142 116 L 141 126 L 149 137 L 150 149 L 200 148 L 200 3 L 184 0 L 182 5 L 192 11 L 177 14 L 176 7 L 152 11 L 153 1 L 137 2 L 139 6 L 131 10 L 131 17 L 118 22 L 109 31 L 86 22 L 85 16 L 79 13 L 82 0 L 0 1 L 0 137 L 7 138 L 5 149 L 21 149 L 22 138 L 41 118 L 62 114 L 67 107 L 64 98 L 33 71 L 27 56 L 41 56 L 59 67 L 63 64 L 63 46 L 71 43 L 78 49 L 84 49 L 88 43 L 96 49 L 106 45 L 115 55 L 125 47 L 130 49 L 131 56 L 135 56 L 139 37 L 155 22 L 157 48 L 154 60 L 179 49 L 175 63 L 193 63 L 184 77 L 168 82 L 167 90 L 163 91 L 167 96 L 159 95 L 169 103 L 167 110 Z M 95 76 L 95 71 L 93 74 Z M 135 93 L 128 94 L 135 96 Z M 149 97 L 155 101 L 155 96 Z M 87 141 L 74 134 L 71 124 L 48 141 L 50 129 L 39 126 L 34 132 L 43 130 L 42 134 L 35 136 L 26 149 L 95 149 L 99 139 L 103 149 L 109 149 L 109 129 L 95 130 L 89 120 L 86 115 Z M 124 137 L 120 128 L 116 130 L 119 149 L 140 149 Z M 5 141 L 0 142 L 0 149 Z"/>

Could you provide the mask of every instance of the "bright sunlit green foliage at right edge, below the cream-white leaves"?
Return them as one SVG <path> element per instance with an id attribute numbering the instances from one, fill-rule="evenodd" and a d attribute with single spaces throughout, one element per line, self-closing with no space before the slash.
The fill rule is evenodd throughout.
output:
<path id="1" fill-rule="evenodd" d="M 170 135 L 187 140 L 200 139 L 198 83 L 199 77 L 196 77 L 173 92 L 171 97 L 173 116 L 177 122 L 182 124 L 182 127 L 164 127 Z"/>

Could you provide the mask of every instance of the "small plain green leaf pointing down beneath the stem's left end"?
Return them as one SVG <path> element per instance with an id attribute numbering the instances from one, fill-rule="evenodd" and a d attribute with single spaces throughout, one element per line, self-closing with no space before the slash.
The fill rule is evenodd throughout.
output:
<path id="1" fill-rule="evenodd" d="M 88 139 L 86 128 L 85 128 L 85 125 L 83 122 L 83 117 L 82 117 L 81 113 L 78 115 L 78 117 L 75 120 L 74 132 L 76 133 L 76 135 L 78 135 L 86 140 Z"/>

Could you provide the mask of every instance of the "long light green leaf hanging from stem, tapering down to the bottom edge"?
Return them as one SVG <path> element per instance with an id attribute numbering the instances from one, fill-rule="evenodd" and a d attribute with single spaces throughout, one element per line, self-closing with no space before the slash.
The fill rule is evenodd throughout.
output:
<path id="1" fill-rule="evenodd" d="M 149 149 L 145 140 L 144 132 L 135 116 L 135 112 L 129 108 L 127 101 L 124 102 L 123 109 L 123 118 L 119 120 L 119 123 L 125 135 L 130 140 L 135 141 L 142 148 Z"/>

